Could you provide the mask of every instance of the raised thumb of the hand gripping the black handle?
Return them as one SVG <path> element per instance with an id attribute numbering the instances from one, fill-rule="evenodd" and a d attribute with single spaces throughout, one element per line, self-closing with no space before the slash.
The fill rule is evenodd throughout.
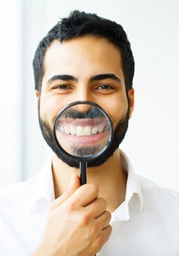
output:
<path id="1" fill-rule="evenodd" d="M 63 202 L 65 202 L 71 195 L 74 194 L 74 192 L 80 187 L 80 179 L 77 174 L 72 174 L 71 176 L 71 182 L 69 184 L 69 188 L 62 194 L 60 197 L 58 197 L 55 201 L 53 201 L 53 208 L 56 208 L 58 205 L 61 205 Z"/>

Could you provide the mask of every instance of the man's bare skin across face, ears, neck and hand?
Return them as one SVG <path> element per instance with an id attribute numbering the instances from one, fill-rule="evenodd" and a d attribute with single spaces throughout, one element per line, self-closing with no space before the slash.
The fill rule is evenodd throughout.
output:
<path id="1" fill-rule="evenodd" d="M 40 116 L 51 128 L 61 108 L 74 101 L 97 103 L 114 125 L 126 115 L 121 54 L 105 38 L 85 35 L 63 43 L 54 40 L 45 54 L 44 67 L 42 90 L 36 97 Z M 71 78 L 57 77 L 64 74 Z M 113 75 L 97 78 L 99 74 Z M 128 91 L 128 98 L 131 117 L 134 89 Z M 102 166 L 88 168 L 87 184 L 82 187 L 79 170 L 55 154 L 52 169 L 56 200 L 48 213 L 43 242 L 33 255 L 94 256 L 110 237 L 110 213 L 125 200 L 127 177 L 119 150 Z"/>

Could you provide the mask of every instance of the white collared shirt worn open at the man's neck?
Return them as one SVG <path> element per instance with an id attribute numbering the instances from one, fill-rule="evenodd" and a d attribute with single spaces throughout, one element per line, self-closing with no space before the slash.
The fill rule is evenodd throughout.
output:
<path id="1" fill-rule="evenodd" d="M 113 232 L 97 256 L 178 256 L 179 195 L 128 172 L 126 200 L 112 213 Z M 0 255 L 27 256 L 38 247 L 55 199 L 51 160 L 27 182 L 0 189 Z"/>

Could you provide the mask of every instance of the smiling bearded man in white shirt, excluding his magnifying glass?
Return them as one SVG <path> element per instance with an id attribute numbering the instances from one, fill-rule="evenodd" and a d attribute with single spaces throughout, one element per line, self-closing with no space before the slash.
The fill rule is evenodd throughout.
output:
<path id="1" fill-rule="evenodd" d="M 41 40 L 33 67 L 53 155 L 29 181 L 1 189 L 1 255 L 177 256 L 179 195 L 136 176 L 118 148 L 134 110 L 134 58 L 123 27 L 72 12 Z M 82 186 L 79 163 L 61 153 L 52 132 L 58 112 L 75 101 L 97 103 L 114 129 Z"/>

